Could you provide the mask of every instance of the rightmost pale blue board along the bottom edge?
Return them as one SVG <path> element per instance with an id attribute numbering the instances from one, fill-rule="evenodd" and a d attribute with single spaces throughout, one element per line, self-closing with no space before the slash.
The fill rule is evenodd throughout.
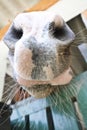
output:
<path id="1" fill-rule="evenodd" d="M 72 117 L 64 112 L 60 113 L 56 107 L 52 107 L 52 115 L 55 130 L 79 130 L 75 116 Z"/>

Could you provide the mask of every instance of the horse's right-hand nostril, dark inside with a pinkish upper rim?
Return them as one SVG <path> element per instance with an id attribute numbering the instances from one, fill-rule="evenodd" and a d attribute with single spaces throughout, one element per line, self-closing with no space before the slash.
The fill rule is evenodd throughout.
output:
<path id="1" fill-rule="evenodd" d="M 62 21 L 60 24 L 59 20 Z M 64 22 L 64 20 L 58 16 L 56 16 L 54 21 L 52 21 L 52 23 L 49 25 L 49 33 L 54 38 L 65 43 L 71 43 L 75 39 L 74 32 Z"/>

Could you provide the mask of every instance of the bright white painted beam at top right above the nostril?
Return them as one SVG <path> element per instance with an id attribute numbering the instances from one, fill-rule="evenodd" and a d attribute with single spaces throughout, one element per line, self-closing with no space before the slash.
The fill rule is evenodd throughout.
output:
<path id="1" fill-rule="evenodd" d="M 67 22 L 87 9 L 87 0 L 61 0 L 48 9 L 63 17 Z"/>

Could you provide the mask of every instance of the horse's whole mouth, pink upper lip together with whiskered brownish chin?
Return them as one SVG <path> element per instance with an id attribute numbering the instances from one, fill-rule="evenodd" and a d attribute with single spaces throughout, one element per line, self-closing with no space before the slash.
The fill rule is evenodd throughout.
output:
<path id="1" fill-rule="evenodd" d="M 52 81 L 29 81 L 22 79 L 21 77 L 17 78 L 17 82 L 25 86 L 25 89 L 35 98 L 43 98 L 50 95 L 52 91 L 55 90 L 59 85 L 68 84 L 73 75 L 71 73 L 71 69 L 69 68 L 60 76 L 56 77 Z"/>

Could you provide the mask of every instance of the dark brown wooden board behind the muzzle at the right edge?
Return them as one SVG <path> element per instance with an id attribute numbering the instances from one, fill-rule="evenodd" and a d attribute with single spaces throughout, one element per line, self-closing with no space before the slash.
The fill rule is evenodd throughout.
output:
<path id="1" fill-rule="evenodd" d="M 68 21 L 67 24 L 76 34 L 75 40 L 71 44 L 71 68 L 75 74 L 80 74 L 87 70 L 87 63 L 79 49 L 80 44 L 83 45 L 84 42 L 87 42 L 87 38 L 85 37 L 87 35 L 87 30 L 81 15 Z"/>

